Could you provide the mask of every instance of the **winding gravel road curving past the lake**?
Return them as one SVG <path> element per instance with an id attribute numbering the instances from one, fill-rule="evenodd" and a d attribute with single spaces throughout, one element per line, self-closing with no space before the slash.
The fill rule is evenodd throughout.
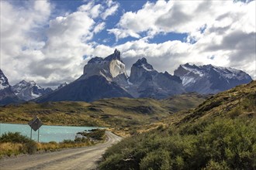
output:
<path id="1" fill-rule="evenodd" d="M 106 135 L 108 140 L 95 146 L 3 159 L 0 169 L 93 169 L 106 148 L 121 140 L 109 131 Z"/>

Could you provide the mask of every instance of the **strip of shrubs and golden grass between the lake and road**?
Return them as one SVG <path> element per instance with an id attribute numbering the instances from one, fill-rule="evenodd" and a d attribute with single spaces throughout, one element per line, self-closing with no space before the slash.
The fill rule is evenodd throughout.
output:
<path id="1" fill-rule="evenodd" d="M 95 129 L 90 133 L 85 133 L 85 138 L 76 138 L 74 140 L 64 140 L 61 142 L 36 142 L 23 136 L 19 132 L 9 132 L 0 137 L 0 158 L 12 155 L 29 154 L 45 151 L 58 151 L 63 148 L 78 148 L 95 145 L 106 140 L 105 129 Z"/>

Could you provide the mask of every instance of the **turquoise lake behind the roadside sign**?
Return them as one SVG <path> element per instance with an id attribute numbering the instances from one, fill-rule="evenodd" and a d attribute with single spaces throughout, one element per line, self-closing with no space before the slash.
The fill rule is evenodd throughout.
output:
<path id="1" fill-rule="evenodd" d="M 64 139 L 74 140 L 75 134 L 80 131 L 95 129 L 95 127 L 74 127 L 74 126 L 48 126 L 43 125 L 40 128 L 40 142 L 63 141 Z M 0 134 L 5 132 L 20 132 L 30 138 L 31 128 L 29 124 L 2 124 L 0 123 Z M 38 131 L 32 130 L 32 138 L 37 141 Z"/>

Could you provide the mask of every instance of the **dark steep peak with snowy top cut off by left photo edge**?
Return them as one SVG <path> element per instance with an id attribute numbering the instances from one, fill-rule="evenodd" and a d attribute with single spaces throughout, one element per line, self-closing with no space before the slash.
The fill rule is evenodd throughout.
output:
<path id="1" fill-rule="evenodd" d="M 21 100 L 13 93 L 5 74 L 0 70 L 0 105 L 19 103 Z"/>

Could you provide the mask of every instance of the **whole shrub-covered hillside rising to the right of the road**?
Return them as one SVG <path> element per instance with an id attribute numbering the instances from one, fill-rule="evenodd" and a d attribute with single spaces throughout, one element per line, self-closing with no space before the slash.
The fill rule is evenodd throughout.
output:
<path id="1" fill-rule="evenodd" d="M 99 168 L 255 169 L 256 81 L 150 126 L 109 148 Z"/>

